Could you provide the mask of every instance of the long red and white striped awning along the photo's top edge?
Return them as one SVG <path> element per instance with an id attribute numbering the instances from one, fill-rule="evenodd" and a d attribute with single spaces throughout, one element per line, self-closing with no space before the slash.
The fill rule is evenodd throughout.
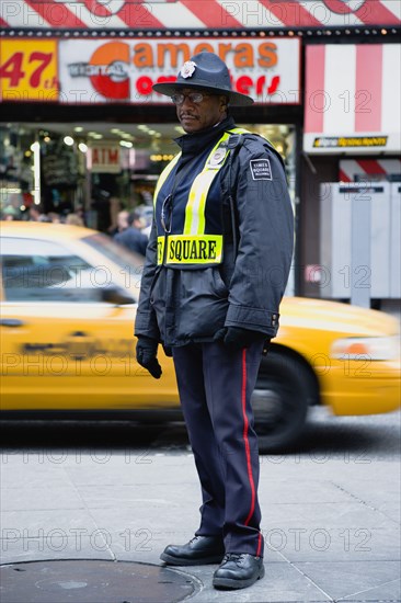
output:
<path id="1" fill-rule="evenodd" d="M 399 0 L 1 0 L 4 29 L 243 30 L 400 25 Z"/>

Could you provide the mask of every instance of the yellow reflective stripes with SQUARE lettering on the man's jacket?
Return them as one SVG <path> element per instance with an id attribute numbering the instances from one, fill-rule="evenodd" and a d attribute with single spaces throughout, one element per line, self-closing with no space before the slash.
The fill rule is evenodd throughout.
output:
<path id="1" fill-rule="evenodd" d="M 227 141 L 230 134 L 247 134 L 243 128 L 226 132 L 206 159 L 205 166 L 192 183 L 185 207 L 182 235 L 158 237 L 158 264 L 219 264 L 222 260 L 222 235 L 205 235 L 206 200 L 213 181 L 225 164 L 230 149 Z M 161 186 L 179 161 L 181 153 L 164 168 L 154 191 L 154 205 Z M 167 250 L 164 253 L 164 246 Z M 165 255 L 165 257 L 164 257 Z"/>

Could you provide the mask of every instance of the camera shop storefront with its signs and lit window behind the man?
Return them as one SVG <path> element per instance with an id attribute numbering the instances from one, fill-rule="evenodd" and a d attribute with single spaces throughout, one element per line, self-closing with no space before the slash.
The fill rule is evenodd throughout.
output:
<path id="1" fill-rule="evenodd" d="M 241 125 L 277 146 L 295 187 L 299 39 L 142 41 L 138 32 L 138 38 L 114 41 L 108 36 L 115 32 L 102 32 L 106 39 L 96 33 L 89 41 L 81 32 L 65 39 L 67 33 L 59 39 L 1 39 L 3 196 L 5 189 L 13 191 L 5 202 L 15 209 L 38 202 L 46 214 L 79 207 L 91 226 L 104 230 L 118 206 L 151 205 L 158 175 L 176 152 L 173 138 L 183 134 L 172 103 L 151 87 L 174 79 L 202 49 L 225 53 L 236 87 L 259 96 L 260 106 L 242 112 Z M 267 115 L 267 94 L 282 111 Z M 297 110 L 294 115 L 287 104 Z"/>

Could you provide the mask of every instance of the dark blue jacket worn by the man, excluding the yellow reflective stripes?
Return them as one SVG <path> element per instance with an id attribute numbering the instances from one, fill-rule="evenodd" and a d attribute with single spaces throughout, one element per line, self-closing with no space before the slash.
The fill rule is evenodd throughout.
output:
<path id="1" fill-rule="evenodd" d="M 136 317 L 137 337 L 151 337 L 174 346 L 211 341 L 225 326 L 271 338 L 277 333 L 279 303 L 293 255 L 294 215 L 283 161 L 262 137 L 242 135 L 207 197 L 205 230 L 224 234 L 222 263 L 190 269 L 157 265 L 160 213 L 171 192 L 169 180 L 170 187 L 174 179 L 175 185 L 179 182 L 171 214 L 172 231 L 179 232 L 193 180 L 224 132 L 232 127 L 233 121 L 228 117 L 217 127 L 176 140 L 182 158 L 156 203 Z M 183 169 L 186 175 L 180 182 Z M 233 220 L 229 190 L 234 197 Z"/>

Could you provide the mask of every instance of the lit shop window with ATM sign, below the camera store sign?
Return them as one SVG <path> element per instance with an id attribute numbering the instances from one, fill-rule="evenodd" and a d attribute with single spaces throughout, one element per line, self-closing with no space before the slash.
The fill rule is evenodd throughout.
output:
<path id="1" fill-rule="evenodd" d="M 295 127 L 238 124 L 283 156 L 295 196 Z M 177 152 L 176 124 L 8 124 L 0 128 L 3 219 L 66 221 L 113 232 L 122 209 L 151 207 L 157 180 Z M 36 145 L 35 153 L 32 150 Z M 39 178 L 39 181 L 35 181 Z M 36 214 L 35 215 L 35 205 Z"/>

